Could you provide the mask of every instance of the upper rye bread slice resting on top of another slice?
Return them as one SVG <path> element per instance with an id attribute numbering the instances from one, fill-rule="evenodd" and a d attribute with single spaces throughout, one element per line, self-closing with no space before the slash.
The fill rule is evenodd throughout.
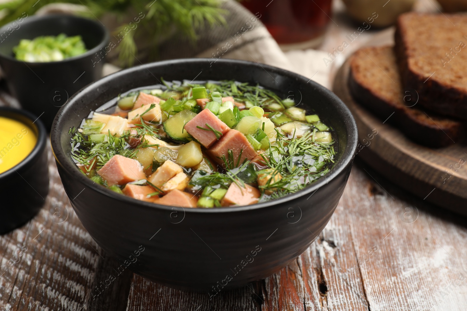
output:
<path id="1" fill-rule="evenodd" d="M 455 25 L 455 26 L 454 26 Z M 407 13 L 396 24 L 404 88 L 439 114 L 467 119 L 467 14 Z"/>

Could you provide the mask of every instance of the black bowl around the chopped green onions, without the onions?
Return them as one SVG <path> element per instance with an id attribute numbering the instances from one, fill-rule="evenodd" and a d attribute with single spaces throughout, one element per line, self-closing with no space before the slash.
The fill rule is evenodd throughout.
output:
<path id="1" fill-rule="evenodd" d="M 41 35 L 81 35 L 88 51 L 60 62 L 22 62 L 13 47 Z M 50 129 L 58 109 L 85 85 L 101 77 L 109 35 L 99 22 L 71 15 L 29 16 L 0 28 L 0 66 L 22 107 Z M 102 49 L 102 51 L 101 51 Z M 99 56 L 96 53 L 99 52 Z"/>

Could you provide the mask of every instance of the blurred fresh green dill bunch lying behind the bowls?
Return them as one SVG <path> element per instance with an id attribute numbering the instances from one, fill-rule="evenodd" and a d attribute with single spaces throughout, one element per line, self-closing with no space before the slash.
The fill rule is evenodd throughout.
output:
<path id="1" fill-rule="evenodd" d="M 87 12 L 80 14 L 93 19 L 99 19 L 104 13 L 113 13 L 118 19 L 124 20 L 128 12 L 135 12 L 135 17 L 142 12 L 142 27 L 125 32 L 126 35 L 117 47 L 119 60 L 124 66 L 134 64 L 138 52 L 136 37 L 149 34 L 145 41 L 152 51 L 157 50 L 160 39 L 166 38 L 167 34 L 183 35 L 194 43 L 197 40 L 197 31 L 206 26 L 225 26 L 224 16 L 228 14 L 220 8 L 222 0 L 11 0 L 0 4 L 0 10 L 5 14 L 0 20 L 0 26 L 24 17 L 23 13 L 30 16 L 50 3 L 84 5 Z M 125 28 L 131 27 L 122 23 L 115 29 L 115 33 L 120 33 Z"/>

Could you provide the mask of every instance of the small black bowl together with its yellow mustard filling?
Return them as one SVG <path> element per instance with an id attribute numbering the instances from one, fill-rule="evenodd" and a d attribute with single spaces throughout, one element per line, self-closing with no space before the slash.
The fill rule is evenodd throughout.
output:
<path id="1" fill-rule="evenodd" d="M 0 107 L 0 234 L 34 217 L 49 193 L 47 131 L 28 111 Z"/>

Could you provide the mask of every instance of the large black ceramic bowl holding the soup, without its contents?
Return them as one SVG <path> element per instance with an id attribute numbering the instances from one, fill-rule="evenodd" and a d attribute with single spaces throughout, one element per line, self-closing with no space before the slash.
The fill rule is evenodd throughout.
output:
<path id="1" fill-rule="evenodd" d="M 106 76 L 60 109 L 50 134 L 65 191 L 94 240 L 123 263 L 122 269 L 128 267 L 150 280 L 184 290 L 242 286 L 270 276 L 303 253 L 339 202 L 357 144 L 350 111 L 323 86 L 266 65 L 218 60 L 210 66 L 210 61 L 155 62 Z M 234 79 L 260 83 L 283 97 L 294 94 L 301 107 L 316 111 L 333 127 L 337 162 L 331 172 L 304 190 L 243 207 L 155 205 L 93 184 L 70 158 L 68 130 L 119 93 L 158 84 L 161 77 L 167 81 Z"/>

